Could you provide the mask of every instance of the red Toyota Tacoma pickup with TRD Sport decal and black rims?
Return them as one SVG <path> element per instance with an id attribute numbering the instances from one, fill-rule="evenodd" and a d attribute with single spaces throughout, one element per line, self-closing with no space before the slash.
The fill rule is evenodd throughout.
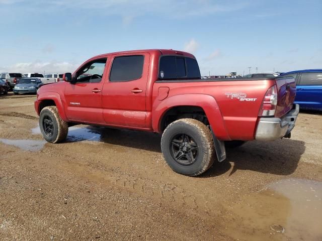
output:
<path id="1" fill-rule="evenodd" d="M 290 138 L 299 112 L 292 77 L 205 80 L 196 58 L 175 50 L 102 54 L 63 80 L 37 93 L 46 141 L 75 124 L 155 132 L 169 166 L 189 176 L 223 161 L 225 144 Z"/>

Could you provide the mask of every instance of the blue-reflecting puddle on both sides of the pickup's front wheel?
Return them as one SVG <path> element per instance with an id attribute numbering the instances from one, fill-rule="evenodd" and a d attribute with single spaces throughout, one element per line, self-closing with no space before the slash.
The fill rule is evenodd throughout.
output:
<path id="1" fill-rule="evenodd" d="M 41 135 L 40 127 L 31 129 L 33 135 Z M 101 141 L 101 134 L 91 127 L 69 127 L 67 141 L 78 142 L 78 141 Z"/>

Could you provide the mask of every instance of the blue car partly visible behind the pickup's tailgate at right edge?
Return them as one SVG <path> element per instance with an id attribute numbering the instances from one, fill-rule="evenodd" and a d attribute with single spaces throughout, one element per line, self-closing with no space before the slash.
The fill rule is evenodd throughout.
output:
<path id="1" fill-rule="evenodd" d="M 296 82 L 295 103 L 302 109 L 322 110 L 322 69 L 305 69 L 280 74 L 294 77 Z"/>

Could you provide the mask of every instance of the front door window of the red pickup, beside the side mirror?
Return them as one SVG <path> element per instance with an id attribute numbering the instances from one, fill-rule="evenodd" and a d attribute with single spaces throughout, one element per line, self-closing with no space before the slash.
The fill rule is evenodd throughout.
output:
<path id="1" fill-rule="evenodd" d="M 76 82 L 99 83 L 102 81 L 106 58 L 94 60 L 84 65 L 76 73 Z"/>

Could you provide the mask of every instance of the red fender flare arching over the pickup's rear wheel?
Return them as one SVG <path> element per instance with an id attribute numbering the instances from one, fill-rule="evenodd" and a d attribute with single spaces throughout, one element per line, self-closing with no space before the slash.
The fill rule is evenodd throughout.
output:
<path id="1" fill-rule="evenodd" d="M 208 94 L 178 94 L 162 101 L 155 101 L 152 106 L 152 129 L 162 133 L 161 120 L 165 113 L 176 106 L 191 105 L 201 107 L 208 118 L 213 134 L 219 140 L 230 140 L 220 108 L 215 98 Z"/>

